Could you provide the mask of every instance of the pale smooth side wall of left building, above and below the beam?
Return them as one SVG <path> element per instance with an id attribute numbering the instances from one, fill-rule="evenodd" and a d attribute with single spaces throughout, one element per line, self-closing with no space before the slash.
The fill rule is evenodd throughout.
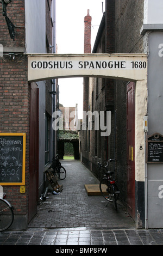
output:
<path id="1" fill-rule="evenodd" d="M 25 0 L 26 53 L 46 53 L 46 0 Z M 43 188 L 45 170 L 45 82 L 39 88 L 39 194 Z"/>

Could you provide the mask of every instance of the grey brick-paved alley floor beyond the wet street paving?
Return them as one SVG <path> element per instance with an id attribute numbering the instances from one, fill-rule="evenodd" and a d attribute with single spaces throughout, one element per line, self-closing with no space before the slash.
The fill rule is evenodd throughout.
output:
<path id="1" fill-rule="evenodd" d="M 85 184 L 99 184 L 96 177 L 80 161 L 63 160 L 67 176 L 59 180 L 60 194 L 50 194 L 37 207 L 29 228 L 135 228 L 135 223 L 122 204 L 115 211 L 102 196 L 87 196 Z"/>

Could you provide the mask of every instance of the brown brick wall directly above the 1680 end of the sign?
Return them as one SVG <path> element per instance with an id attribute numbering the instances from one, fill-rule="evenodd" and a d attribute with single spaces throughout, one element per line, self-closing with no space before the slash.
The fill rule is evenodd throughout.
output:
<path id="1" fill-rule="evenodd" d="M 143 53 L 143 36 L 140 29 L 143 25 L 142 0 L 116 0 L 115 26 L 117 53 Z"/>

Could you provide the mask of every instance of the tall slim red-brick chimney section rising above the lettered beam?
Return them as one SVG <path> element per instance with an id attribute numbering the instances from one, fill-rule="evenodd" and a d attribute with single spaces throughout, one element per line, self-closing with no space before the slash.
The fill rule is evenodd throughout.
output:
<path id="1" fill-rule="evenodd" d="M 84 53 L 91 53 L 91 21 L 92 17 L 87 10 L 87 16 L 84 17 Z"/>

